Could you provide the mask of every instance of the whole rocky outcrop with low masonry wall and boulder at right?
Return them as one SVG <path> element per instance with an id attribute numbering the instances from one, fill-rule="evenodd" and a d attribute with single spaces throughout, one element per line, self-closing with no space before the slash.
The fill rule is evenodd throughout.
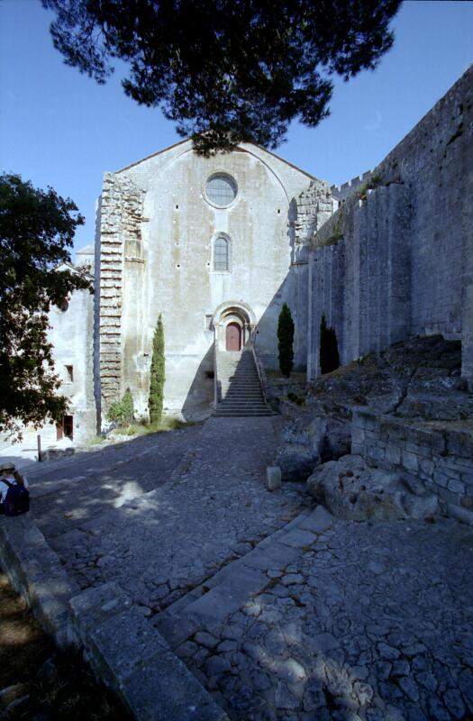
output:
<path id="1" fill-rule="evenodd" d="M 301 405 L 284 401 L 283 479 L 310 476 L 309 492 L 342 518 L 473 523 L 473 397 L 460 362 L 458 341 L 415 336 L 317 379 Z"/>

